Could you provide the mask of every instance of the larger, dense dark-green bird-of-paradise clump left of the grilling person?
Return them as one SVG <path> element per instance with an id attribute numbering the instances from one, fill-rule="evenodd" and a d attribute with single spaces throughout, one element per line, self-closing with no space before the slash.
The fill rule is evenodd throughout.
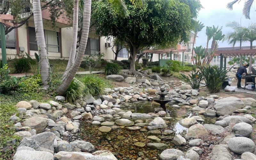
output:
<path id="1" fill-rule="evenodd" d="M 220 92 L 220 87 L 228 77 L 227 74 L 230 69 L 222 69 L 218 66 L 209 66 L 209 67 L 198 67 L 201 71 L 205 85 L 210 93 Z"/>

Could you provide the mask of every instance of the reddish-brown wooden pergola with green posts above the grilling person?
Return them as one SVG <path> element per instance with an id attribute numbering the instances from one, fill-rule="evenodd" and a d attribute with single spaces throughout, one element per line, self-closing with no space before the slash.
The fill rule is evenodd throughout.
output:
<path id="1" fill-rule="evenodd" d="M 235 56 L 255 56 L 256 49 L 242 49 L 242 50 L 218 50 L 214 52 L 215 56 L 220 56 L 220 68 L 223 68 L 223 57 L 224 57 L 224 68 L 226 68 L 227 57 Z M 252 67 L 252 64 L 249 64 Z"/>

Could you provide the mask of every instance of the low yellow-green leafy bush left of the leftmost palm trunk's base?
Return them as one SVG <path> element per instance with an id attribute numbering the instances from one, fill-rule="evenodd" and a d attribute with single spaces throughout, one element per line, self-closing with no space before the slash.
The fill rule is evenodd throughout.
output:
<path id="1" fill-rule="evenodd" d="M 22 77 L 19 88 L 24 92 L 36 92 L 40 89 L 41 75 Z"/>

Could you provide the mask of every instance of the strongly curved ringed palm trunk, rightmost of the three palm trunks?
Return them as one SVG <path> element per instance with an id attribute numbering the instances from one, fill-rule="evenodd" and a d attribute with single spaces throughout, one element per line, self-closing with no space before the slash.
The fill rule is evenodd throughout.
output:
<path id="1" fill-rule="evenodd" d="M 71 81 L 75 77 L 76 72 L 83 60 L 87 39 L 88 39 L 88 34 L 89 34 L 89 28 L 90 28 L 91 4 L 92 4 L 91 0 L 84 0 L 83 30 L 82 30 L 82 36 L 79 44 L 78 53 L 77 53 L 74 65 L 68 72 L 67 76 L 64 77 L 59 88 L 56 90 L 56 92 L 59 93 L 59 95 L 63 95 L 67 91 L 67 88 L 69 87 Z"/>

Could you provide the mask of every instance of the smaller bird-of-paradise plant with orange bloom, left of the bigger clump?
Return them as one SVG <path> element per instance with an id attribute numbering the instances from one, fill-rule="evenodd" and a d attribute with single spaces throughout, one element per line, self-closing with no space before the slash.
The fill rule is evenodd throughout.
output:
<path id="1" fill-rule="evenodd" d="M 181 74 L 181 78 L 182 80 L 187 82 L 192 87 L 192 89 L 199 89 L 199 86 L 203 80 L 203 77 L 201 73 L 199 73 L 199 70 L 197 72 L 196 70 L 193 70 L 191 75 L 188 76 Z"/>

